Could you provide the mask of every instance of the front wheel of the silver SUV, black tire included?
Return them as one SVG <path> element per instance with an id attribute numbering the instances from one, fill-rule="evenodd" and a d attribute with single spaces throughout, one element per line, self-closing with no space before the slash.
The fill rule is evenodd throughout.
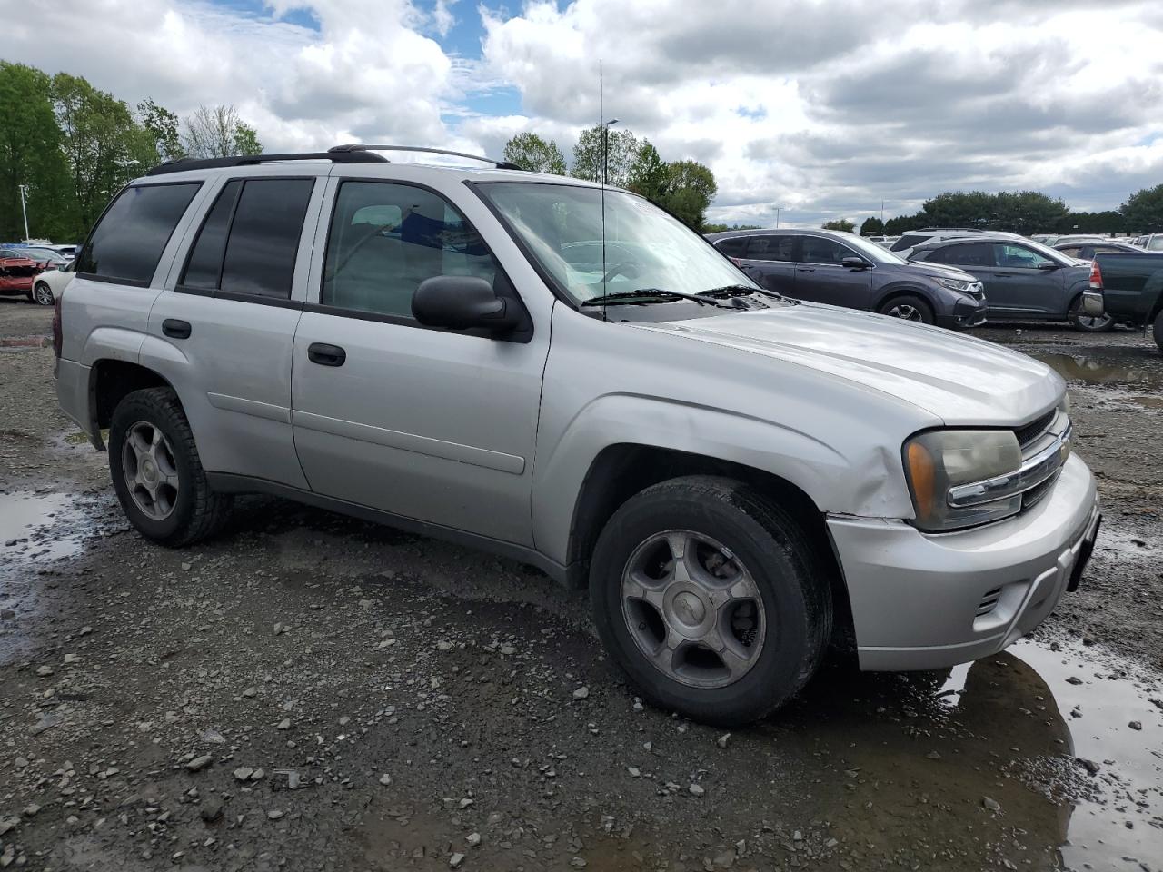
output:
<path id="1" fill-rule="evenodd" d="M 716 608 L 692 594 L 666 534 L 694 543 L 684 551 L 715 582 L 706 588 L 713 595 L 743 595 Z M 655 572 L 649 589 L 635 580 L 640 567 Z M 671 479 L 623 503 L 594 546 L 590 602 L 606 650 L 643 698 L 723 727 L 765 717 L 799 693 L 832 635 L 832 587 L 804 531 L 755 488 L 726 478 Z M 699 621 L 723 630 L 711 646 L 693 629 Z M 728 656 L 712 655 L 723 639 Z"/>

